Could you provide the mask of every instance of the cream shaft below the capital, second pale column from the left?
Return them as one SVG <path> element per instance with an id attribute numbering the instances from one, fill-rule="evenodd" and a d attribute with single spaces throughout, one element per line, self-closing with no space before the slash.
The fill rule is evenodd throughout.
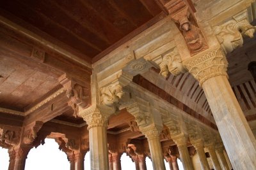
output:
<path id="1" fill-rule="evenodd" d="M 153 169 L 165 169 L 164 157 L 162 153 L 161 143 L 159 136 L 154 138 L 148 138 L 148 145 L 150 150 L 150 156 L 152 159 Z"/>

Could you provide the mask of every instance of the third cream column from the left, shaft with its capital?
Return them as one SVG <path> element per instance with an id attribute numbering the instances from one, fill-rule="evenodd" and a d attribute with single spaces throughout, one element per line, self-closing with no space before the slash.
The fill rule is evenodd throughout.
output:
<path id="1" fill-rule="evenodd" d="M 172 140 L 176 143 L 176 145 L 179 149 L 180 159 L 181 159 L 184 169 L 185 170 L 190 170 L 190 169 L 193 170 L 193 164 L 191 162 L 191 158 L 190 158 L 189 152 L 188 152 L 186 136 L 184 136 L 184 134 L 172 136 Z"/>

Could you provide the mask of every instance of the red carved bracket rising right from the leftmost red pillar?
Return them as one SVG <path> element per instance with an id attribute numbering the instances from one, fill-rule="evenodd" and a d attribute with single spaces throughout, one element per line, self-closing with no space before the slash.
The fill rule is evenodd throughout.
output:
<path id="1" fill-rule="evenodd" d="M 31 144 L 37 137 L 37 132 L 41 129 L 44 122 L 36 121 L 28 125 L 24 129 L 23 143 Z"/>

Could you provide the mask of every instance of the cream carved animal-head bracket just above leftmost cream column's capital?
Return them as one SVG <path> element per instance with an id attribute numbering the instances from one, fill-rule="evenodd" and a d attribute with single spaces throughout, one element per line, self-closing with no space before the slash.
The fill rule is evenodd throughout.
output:
<path id="1" fill-rule="evenodd" d="M 100 97 L 102 104 L 106 106 L 118 106 L 119 99 L 123 96 L 124 92 L 120 84 L 111 84 L 107 87 L 100 88 Z"/>

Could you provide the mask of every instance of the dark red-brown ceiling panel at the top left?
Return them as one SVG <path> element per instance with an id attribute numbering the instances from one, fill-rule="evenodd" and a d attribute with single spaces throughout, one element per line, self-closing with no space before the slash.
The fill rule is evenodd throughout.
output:
<path id="1" fill-rule="evenodd" d="M 127 41 L 127 36 L 147 29 L 163 14 L 154 0 L 8 0 L 0 1 L 0 6 L 4 17 L 25 21 L 27 29 L 32 25 L 47 33 L 83 54 L 80 57 L 88 62 L 113 50 L 125 36 Z"/>

